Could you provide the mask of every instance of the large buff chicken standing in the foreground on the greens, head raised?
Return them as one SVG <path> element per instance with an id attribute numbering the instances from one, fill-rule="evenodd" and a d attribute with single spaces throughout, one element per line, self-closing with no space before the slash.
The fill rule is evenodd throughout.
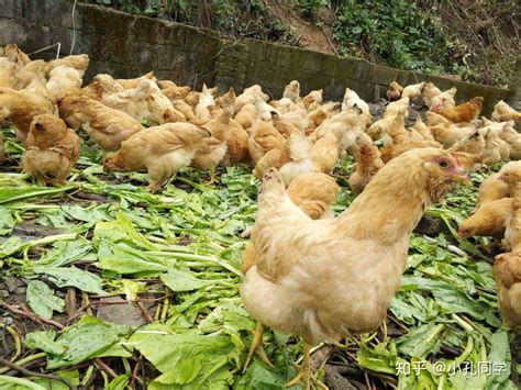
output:
<path id="1" fill-rule="evenodd" d="M 372 332 L 385 320 L 413 227 L 462 180 L 457 154 L 409 151 L 384 166 L 339 218 L 313 221 L 291 202 L 276 169 L 264 176 L 252 231 L 255 266 L 241 298 L 260 324 L 303 338 L 297 378 L 306 389 L 310 345 Z M 248 356 L 262 345 L 258 334 L 262 325 Z"/>

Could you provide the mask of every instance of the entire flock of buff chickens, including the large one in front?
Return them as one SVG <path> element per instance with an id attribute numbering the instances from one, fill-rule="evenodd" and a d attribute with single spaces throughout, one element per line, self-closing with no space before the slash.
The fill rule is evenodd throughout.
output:
<path id="1" fill-rule="evenodd" d="M 87 55 L 31 60 L 16 45 L 0 54 L 0 120 L 14 126 L 25 145 L 23 168 L 41 181 L 66 181 L 79 157 L 80 127 L 113 152 L 104 156 L 107 170 L 146 169 L 152 191 L 187 166 L 210 170 L 212 182 L 218 165 L 254 166 L 264 182 L 241 294 L 259 326 L 246 366 L 256 349 L 269 364 L 263 324 L 298 334 L 306 342 L 298 379 L 307 386 L 309 345 L 384 321 L 424 209 L 479 164 L 521 159 L 514 130 L 521 113 L 500 101 L 491 120 L 478 120 L 481 97 L 455 105 L 456 89 L 432 82 L 392 82 L 384 116 L 373 123 L 368 104 L 348 88 L 342 103 L 323 102 L 323 90 L 301 98 L 298 81 L 269 100 L 259 86 L 219 96 L 217 88 L 198 92 L 153 73 L 98 75 L 81 88 Z M 406 129 L 409 105 L 420 98 L 430 109 L 425 122 L 418 116 Z M 347 154 L 356 159 L 348 181 L 359 196 L 334 218 L 330 205 L 340 187 L 330 174 Z M 459 231 L 505 236 L 511 253 L 498 257 L 495 275 L 510 325 L 521 323 L 520 179 L 521 163 L 513 161 L 486 180 L 476 213 Z M 494 219 L 480 220 L 481 213 Z M 476 227 L 483 220 L 488 231 Z"/>

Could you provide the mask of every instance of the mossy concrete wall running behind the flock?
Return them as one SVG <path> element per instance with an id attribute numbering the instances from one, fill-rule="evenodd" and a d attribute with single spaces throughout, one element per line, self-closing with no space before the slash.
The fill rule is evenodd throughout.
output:
<path id="1" fill-rule="evenodd" d="M 0 1 L 0 45 L 14 42 L 31 53 L 60 42 L 60 54 L 69 53 L 71 0 Z M 517 96 L 514 100 L 519 100 L 519 86 L 513 93 L 256 40 L 230 42 L 213 31 L 90 4 L 77 4 L 75 25 L 74 53 L 87 53 L 91 58 L 87 78 L 99 73 L 135 77 L 155 70 L 160 78 L 197 87 L 206 82 L 222 90 L 229 87 L 241 90 L 259 83 L 274 98 L 280 97 L 286 83 L 297 79 L 304 93 L 323 88 L 326 99 L 341 100 L 350 87 L 369 101 L 385 97 L 387 86 L 393 80 L 401 85 L 429 80 L 441 89 L 455 86 L 458 102 L 475 96 L 485 97 L 485 113 L 499 99 Z M 47 51 L 34 57 L 53 55 L 56 55 L 55 48 L 54 53 Z"/>

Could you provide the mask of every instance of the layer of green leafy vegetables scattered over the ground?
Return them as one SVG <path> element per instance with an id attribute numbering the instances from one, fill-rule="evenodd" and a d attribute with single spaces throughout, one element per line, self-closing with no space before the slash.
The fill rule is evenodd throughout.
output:
<path id="1" fill-rule="evenodd" d="M 151 194 L 145 174 L 107 175 L 97 148 L 85 146 L 67 186 L 41 187 L 16 171 L 23 151 L 10 130 L 4 135 L 0 348 L 8 347 L 4 359 L 44 376 L 0 363 L 2 389 L 282 389 L 295 376 L 300 342 L 271 331 L 265 341 L 275 368 L 255 358 L 242 372 L 255 328 L 239 294 L 246 243 L 240 234 L 254 223 L 259 186 L 251 168 L 221 169 L 217 186 L 202 185 L 206 172 L 185 169 Z M 351 167 L 346 159 L 335 171 L 335 212 L 354 198 Z M 355 366 L 348 379 L 378 387 L 516 388 L 513 335 L 501 328 L 491 264 L 476 246 L 488 242 L 453 234 L 475 204 L 483 176 L 474 179 L 474 188 L 428 212 L 445 233 L 413 235 L 387 323 L 325 346 L 320 378 L 328 382 L 330 368 Z M 74 296 L 75 310 L 66 313 Z M 141 310 L 138 323 L 110 316 L 107 308 L 122 304 Z M 473 374 L 480 361 L 497 372 Z"/>

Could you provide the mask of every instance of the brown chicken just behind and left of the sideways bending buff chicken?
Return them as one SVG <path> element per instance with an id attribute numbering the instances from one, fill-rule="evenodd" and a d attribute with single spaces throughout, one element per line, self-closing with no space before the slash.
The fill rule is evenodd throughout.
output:
<path id="1" fill-rule="evenodd" d="M 128 113 L 86 96 L 68 94 L 58 102 L 59 115 L 73 129 L 84 125 L 90 138 L 104 151 L 117 151 L 143 125 Z"/>

